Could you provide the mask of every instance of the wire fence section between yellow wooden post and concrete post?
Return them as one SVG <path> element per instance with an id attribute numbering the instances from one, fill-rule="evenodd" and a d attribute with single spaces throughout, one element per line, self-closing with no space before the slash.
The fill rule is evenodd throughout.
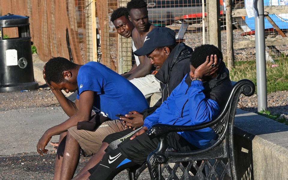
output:
<path id="1" fill-rule="evenodd" d="M 96 2 L 101 36 L 100 62 L 119 73 L 129 71 L 134 64 L 131 38 L 127 39 L 116 33 L 110 21 L 110 14 L 118 7 L 126 7 L 129 1 Z M 202 44 L 202 0 L 148 0 L 146 2 L 149 21 L 152 24 L 173 29 L 177 33 L 178 41 L 184 41 L 190 47 Z M 205 9 L 204 5 L 204 11 Z M 204 12 L 205 17 L 206 12 Z M 208 21 L 205 18 L 205 27 L 207 25 Z M 205 42 L 208 42 L 207 33 L 205 33 Z"/>

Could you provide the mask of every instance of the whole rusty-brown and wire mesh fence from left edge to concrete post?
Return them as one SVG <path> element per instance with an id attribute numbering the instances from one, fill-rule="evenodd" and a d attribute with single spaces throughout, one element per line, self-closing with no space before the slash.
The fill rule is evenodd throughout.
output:
<path id="1" fill-rule="evenodd" d="M 99 32 L 98 61 L 118 73 L 131 69 L 133 53 L 131 38 L 116 33 L 110 15 L 130 0 L 0 0 L 0 13 L 30 17 L 30 32 L 41 60 L 62 56 L 84 64 L 95 57 L 93 34 Z M 93 3 L 95 2 L 95 3 Z M 178 39 L 191 47 L 203 43 L 202 0 L 147 0 L 149 20 L 178 33 Z M 206 8 L 204 8 L 206 9 Z M 93 10 L 95 15 L 93 15 Z M 205 29 L 208 20 L 204 12 Z M 93 20 L 96 23 L 93 24 Z M 15 29 L 4 32 L 16 34 Z M 205 42 L 208 43 L 208 33 Z"/>

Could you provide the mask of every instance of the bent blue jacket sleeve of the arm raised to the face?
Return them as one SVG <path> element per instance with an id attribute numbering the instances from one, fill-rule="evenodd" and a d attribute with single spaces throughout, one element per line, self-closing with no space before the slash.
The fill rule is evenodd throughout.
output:
<path id="1" fill-rule="evenodd" d="M 203 93 L 202 81 L 192 81 L 187 93 L 190 94 L 188 105 L 190 120 L 193 125 L 209 122 L 217 117 L 220 112 L 218 103 L 207 99 Z"/>

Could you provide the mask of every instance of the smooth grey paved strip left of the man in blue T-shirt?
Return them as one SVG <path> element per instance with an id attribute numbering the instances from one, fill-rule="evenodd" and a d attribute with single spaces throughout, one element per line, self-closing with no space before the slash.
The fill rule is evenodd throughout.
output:
<path id="1" fill-rule="evenodd" d="M 42 134 L 68 117 L 60 107 L 26 108 L 0 112 L 0 155 L 36 152 Z M 57 141 L 53 137 L 52 141 Z M 48 146 L 51 151 L 52 146 Z"/>

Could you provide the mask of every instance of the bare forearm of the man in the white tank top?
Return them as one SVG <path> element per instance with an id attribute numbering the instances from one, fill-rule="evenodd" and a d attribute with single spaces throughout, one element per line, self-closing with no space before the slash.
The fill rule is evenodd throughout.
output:
<path id="1" fill-rule="evenodd" d="M 137 66 L 133 73 L 127 78 L 128 80 L 144 77 L 150 74 L 152 64 L 150 63 L 149 58 L 147 58 L 146 56 L 139 56 L 139 61 L 139 66 Z"/>

